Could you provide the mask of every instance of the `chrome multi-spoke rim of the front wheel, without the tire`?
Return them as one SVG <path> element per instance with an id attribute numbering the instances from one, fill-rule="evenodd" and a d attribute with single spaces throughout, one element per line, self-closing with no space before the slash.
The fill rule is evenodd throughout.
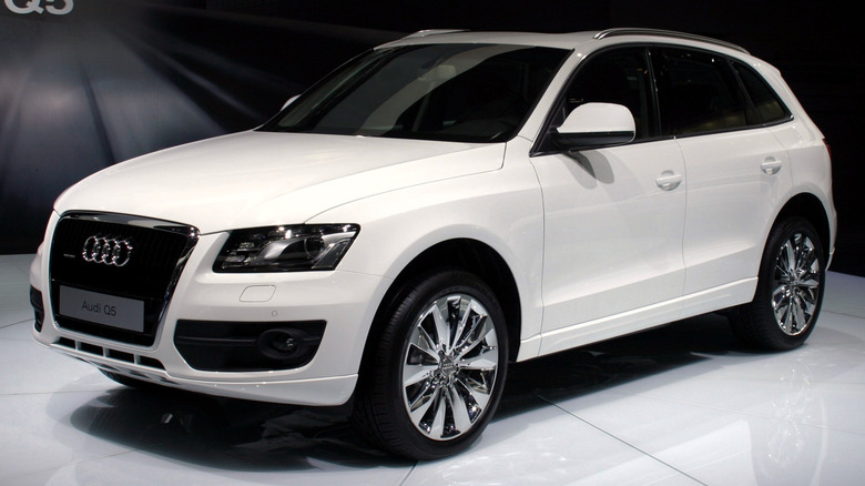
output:
<path id="1" fill-rule="evenodd" d="M 403 355 L 403 402 L 426 437 L 449 441 L 488 412 L 499 367 L 489 313 L 476 298 L 451 294 L 420 313 Z"/>

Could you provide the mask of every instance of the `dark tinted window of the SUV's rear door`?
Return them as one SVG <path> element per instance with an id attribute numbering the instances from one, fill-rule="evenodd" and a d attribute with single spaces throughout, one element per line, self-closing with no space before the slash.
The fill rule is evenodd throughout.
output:
<path id="1" fill-rule="evenodd" d="M 663 135 L 747 126 L 745 102 L 730 63 L 703 51 L 652 50 Z"/>

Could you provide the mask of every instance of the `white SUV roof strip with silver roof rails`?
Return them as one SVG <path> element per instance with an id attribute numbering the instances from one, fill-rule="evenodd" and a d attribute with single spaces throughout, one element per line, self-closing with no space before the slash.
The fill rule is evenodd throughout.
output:
<path id="1" fill-rule="evenodd" d="M 689 45 L 713 47 L 715 49 L 731 49 L 740 53 L 747 53 L 745 49 L 731 42 L 696 36 L 685 32 L 675 32 L 658 29 L 618 28 L 602 31 L 569 32 L 569 33 L 539 33 L 539 32 L 474 32 L 465 30 L 421 30 L 403 39 L 381 47 L 413 45 L 429 43 L 495 43 L 539 45 L 569 50 L 582 50 L 590 43 L 604 39 L 618 39 L 632 42 L 672 42 Z M 600 47 L 600 44 L 599 44 Z"/>

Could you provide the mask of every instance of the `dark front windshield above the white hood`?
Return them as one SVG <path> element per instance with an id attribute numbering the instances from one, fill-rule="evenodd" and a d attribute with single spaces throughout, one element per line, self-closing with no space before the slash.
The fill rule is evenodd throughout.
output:
<path id="1" fill-rule="evenodd" d="M 490 44 L 372 51 L 316 84 L 262 130 L 461 142 L 509 140 L 567 53 Z"/>

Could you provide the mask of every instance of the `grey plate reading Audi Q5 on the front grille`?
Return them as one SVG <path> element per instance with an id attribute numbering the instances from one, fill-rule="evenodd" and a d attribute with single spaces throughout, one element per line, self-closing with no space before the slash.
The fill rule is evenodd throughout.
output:
<path id="1" fill-rule="evenodd" d="M 60 286 L 60 314 L 136 333 L 144 332 L 144 302 Z"/>

